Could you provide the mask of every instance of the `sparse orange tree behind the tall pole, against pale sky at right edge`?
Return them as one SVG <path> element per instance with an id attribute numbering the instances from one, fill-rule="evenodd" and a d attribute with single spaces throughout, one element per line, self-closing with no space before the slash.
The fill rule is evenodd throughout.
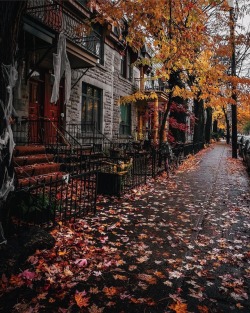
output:
<path id="1" fill-rule="evenodd" d="M 229 29 L 232 22 L 229 18 L 229 7 L 227 1 L 221 3 L 213 19 L 213 34 L 211 36 L 214 46 L 214 57 L 216 62 L 224 66 L 222 77 L 219 79 L 220 92 L 211 99 L 211 104 L 214 108 L 214 118 L 222 123 L 221 117 L 224 116 L 224 126 L 227 132 L 227 142 L 230 138 L 230 111 L 231 105 L 237 105 L 237 119 L 239 131 L 242 131 L 242 124 L 247 119 L 247 99 L 249 98 L 249 83 L 246 68 L 249 68 L 250 40 L 249 30 L 244 26 L 245 16 L 247 11 L 247 2 L 242 5 L 239 1 L 239 6 L 235 8 L 235 50 L 236 50 L 236 76 L 231 75 L 231 54 L 232 54 L 232 37 Z M 237 2 L 238 3 L 238 2 Z M 232 99 L 232 86 L 236 89 L 237 102 Z M 223 114 L 221 114 L 223 113 Z M 220 128 L 223 125 L 220 124 Z"/>

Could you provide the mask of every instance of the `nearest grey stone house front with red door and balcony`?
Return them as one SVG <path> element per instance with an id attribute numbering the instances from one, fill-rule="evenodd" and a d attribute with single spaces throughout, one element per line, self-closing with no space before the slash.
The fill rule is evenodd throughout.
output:
<path id="1" fill-rule="evenodd" d="M 139 78 L 140 71 L 131 65 L 136 58 L 133 56 L 133 61 L 129 60 L 129 64 L 123 64 L 130 73 L 129 77 L 121 73 L 121 64 L 124 62 L 122 59 L 128 48 L 120 43 L 114 27 L 108 34 L 105 33 L 106 26 L 100 25 L 98 31 L 94 31 L 94 27 L 93 33 L 84 33 L 82 21 L 89 15 L 85 1 L 69 1 L 65 6 L 52 1 L 49 7 L 43 1 L 33 1 L 27 10 L 20 42 L 22 61 L 18 68 L 14 107 L 19 122 L 32 120 L 35 125 L 35 121 L 39 121 L 35 128 L 37 132 L 42 120 L 46 120 L 47 124 L 52 121 L 56 127 L 64 127 L 65 130 L 70 129 L 69 124 L 78 125 L 78 130 L 81 130 L 81 124 L 91 121 L 97 123 L 98 132 L 110 140 L 121 135 L 123 109 L 119 105 L 119 99 L 135 92 L 134 80 Z M 63 29 L 58 32 L 58 27 L 61 26 Z M 55 79 L 53 58 L 58 50 L 58 38 L 61 33 L 66 37 L 72 88 L 70 99 L 65 103 L 63 76 L 60 81 L 59 99 L 52 103 L 50 99 Z M 73 38 L 76 38 L 76 41 Z M 90 101 L 88 94 L 84 96 L 87 100 L 83 99 L 84 88 L 98 93 L 98 116 L 94 116 L 96 112 L 92 108 L 92 118 L 84 117 L 83 112 L 90 114 L 91 110 L 90 107 L 84 108 L 86 101 Z M 93 102 L 92 105 L 96 103 Z M 137 123 L 135 105 L 131 104 L 129 112 L 126 113 L 129 113 L 129 121 L 126 120 L 127 128 L 123 138 L 134 135 Z M 45 134 L 47 135 L 51 134 Z"/>

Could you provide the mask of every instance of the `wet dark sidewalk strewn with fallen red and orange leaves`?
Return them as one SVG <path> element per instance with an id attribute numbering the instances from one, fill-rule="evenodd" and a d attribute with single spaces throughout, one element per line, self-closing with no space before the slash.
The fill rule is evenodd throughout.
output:
<path id="1" fill-rule="evenodd" d="M 1 312 L 250 312 L 249 176 L 225 143 L 52 231 L 3 274 Z"/>

